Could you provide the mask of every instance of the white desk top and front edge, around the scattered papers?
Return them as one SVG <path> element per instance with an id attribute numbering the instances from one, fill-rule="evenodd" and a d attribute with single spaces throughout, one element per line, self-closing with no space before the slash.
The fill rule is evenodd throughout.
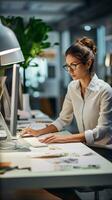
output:
<path id="1" fill-rule="evenodd" d="M 31 167 L 28 170 L 13 170 L 0 175 L 2 188 L 55 188 L 112 186 L 112 163 L 95 153 L 82 143 L 54 144 L 57 149 L 78 159 L 78 165 L 100 165 L 98 169 L 73 168 L 60 165 L 60 158 L 34 158 L 37 152 L 1 153 L 1 161 L 11 162 L 19 167 Z M 52 145 L 53 146 L 53 145 Z M 46 147 L 44 147 L 46 148 Z M 48 148 L 48 147 L 47 147 Z M 38 151 L 43 151 L 38 148 Z M 53 151 L 53 150 L 52 150 Z M 92 155 L 85 155 L 91 153 Z"/>

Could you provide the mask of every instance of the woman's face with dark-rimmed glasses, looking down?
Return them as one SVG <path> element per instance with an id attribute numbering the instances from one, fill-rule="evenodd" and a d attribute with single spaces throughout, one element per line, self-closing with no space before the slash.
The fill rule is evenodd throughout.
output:
<path id="1" fill-rule="evenodd" d="M 72 55 L 66 56 L 66 66 L 69 74 L 74 80 L 84 79 L 89 75 L 88 64 L 83 64 L 81 61 Z"/>

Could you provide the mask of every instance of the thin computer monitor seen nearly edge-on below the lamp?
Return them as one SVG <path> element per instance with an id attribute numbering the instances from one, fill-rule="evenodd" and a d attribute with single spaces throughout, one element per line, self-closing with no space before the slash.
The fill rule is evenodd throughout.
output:
<path id="1" fill-rule="evenodd" d="M 6 85 L 3 92 L 1 112 L 12 136 L 16 135 L 17 110 L 19 99 L 19 65 L 14 64 L 13 68 L 6 69 Z"/>

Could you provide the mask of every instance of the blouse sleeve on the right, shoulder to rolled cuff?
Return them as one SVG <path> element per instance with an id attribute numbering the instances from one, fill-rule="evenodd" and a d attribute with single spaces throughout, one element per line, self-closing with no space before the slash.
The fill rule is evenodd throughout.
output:
<path id="1" fill-rule="evenodd" d="M 100 113 L 97 126 L 85 131 L 85 139 L 88 144 L 112 136 L 112 88 L 108 87 L 102 92 L 100 98 Z"/>

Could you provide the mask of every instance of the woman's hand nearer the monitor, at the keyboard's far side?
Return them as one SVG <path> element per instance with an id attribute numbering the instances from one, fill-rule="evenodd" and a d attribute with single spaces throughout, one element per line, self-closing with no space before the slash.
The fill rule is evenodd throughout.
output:
<path id="1" fill-rule="evenodd" d="M 33 130 L 31 128 L 25 128 L 20 132 L 21 137 L 38 136 L 38 135 L 40 135 L 39 131 Z"/>

